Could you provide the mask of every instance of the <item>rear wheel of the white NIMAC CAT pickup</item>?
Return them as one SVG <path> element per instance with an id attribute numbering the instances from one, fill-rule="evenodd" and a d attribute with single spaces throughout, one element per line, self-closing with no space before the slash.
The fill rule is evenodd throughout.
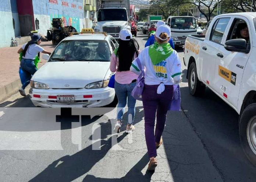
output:
<path id="1" fill-rule="evenodd" d="M 205 92 L 205 85 L 199 81 L 196 71 L 196 64 L 192 62 L 188 71 L 189 93 L 193 96 L 201 96 Z"/>

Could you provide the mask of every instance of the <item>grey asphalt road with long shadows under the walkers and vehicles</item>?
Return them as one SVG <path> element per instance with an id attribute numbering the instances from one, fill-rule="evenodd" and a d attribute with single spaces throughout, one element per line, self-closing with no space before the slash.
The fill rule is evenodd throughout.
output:
<path id="1" fill-rule="evenodd" d="M 147 36 L 140 32 L 136 40 L 142 49 Z M 182 60 L 183 48 L 176 50 Z M 28 96 L 15 94 L 0 104 L 0 181 L 255 182 L 256 167 L 240 146 L 238 114 L 210 89 L 191 96 L 183 62 L 182 68 L 182 111 L 168 112 L 154 173 L 146 172 L 140 101 L 134 133 L 126 135 L 123 125 L 115 135 L 115 108 L 35 108 Z"/>

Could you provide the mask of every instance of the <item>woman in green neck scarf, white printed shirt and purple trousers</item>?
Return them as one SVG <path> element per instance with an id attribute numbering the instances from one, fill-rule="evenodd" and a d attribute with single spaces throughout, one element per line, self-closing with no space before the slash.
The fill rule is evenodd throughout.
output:
<path id="1" fill-rule="evenodd" d="M 145 71 L 145 86 L 142 102 L 145 114 L 145 137 L 150 162 L 147 170 L 157 166 L 156 149 L 163 143 L 161 135 L 166 122 L 167 110 L 173 99 L 173 84 L 181 80 L 181 62 L 178 53 L 168 43 L 171 29 L 167 25 L 157 27 L 154 45 L 142 50 L 132 62 L 130 70 L 137 75 L 141 73 L 137 62 Z M 156 131 L 154 124 L 156 119 Z"/>

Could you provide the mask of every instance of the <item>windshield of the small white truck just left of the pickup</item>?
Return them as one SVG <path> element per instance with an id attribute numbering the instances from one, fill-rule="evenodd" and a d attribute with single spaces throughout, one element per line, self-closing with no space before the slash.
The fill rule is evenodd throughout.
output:
<path id="1" fill-rule="evenodd" d="M 193 17 L 171 18 L 171 28 L 173 29 L 195 29 L 196 19 Z"/>

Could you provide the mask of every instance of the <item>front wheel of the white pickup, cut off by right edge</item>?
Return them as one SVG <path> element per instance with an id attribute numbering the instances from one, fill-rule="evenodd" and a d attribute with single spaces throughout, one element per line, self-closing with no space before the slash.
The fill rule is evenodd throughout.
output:
<path id="1" fill-rule="evenodd" d="M 243 152 L 256 166 L 256 103 L 243 110 L 239 121 L 239 137 Z"/>

